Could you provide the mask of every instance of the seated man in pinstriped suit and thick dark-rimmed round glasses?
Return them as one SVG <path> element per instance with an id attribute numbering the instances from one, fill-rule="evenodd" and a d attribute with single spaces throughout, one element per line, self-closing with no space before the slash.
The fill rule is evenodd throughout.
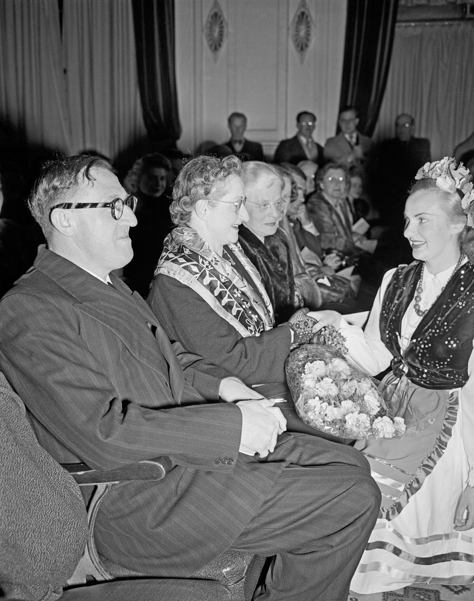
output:
<path id="1" fill-rule="evenodd" d="M 160 455 L 174 466 L 159 483 L 112 489 L 99 552 L 176 577 L 226 549 L 276 555 L 259 599 L 346 599 L 380 505 L 362 454 L 283 433 L 271 401 L 171 344 L 110 275 L 131 259 L 137 221 L 108 163 L 52 163 L 29 206 L 48 248 L 0 302 L 0 368 L 40 443 L 93 468 Z"/>

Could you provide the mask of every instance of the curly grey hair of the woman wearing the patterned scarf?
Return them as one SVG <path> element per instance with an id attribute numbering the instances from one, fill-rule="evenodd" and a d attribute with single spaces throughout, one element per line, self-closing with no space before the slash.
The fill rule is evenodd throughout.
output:
<path id="1" fill-rule="evenodd" d="M 186 225 L 191 219 L 198 200 L 220 200 L 227 192 L 230 175 L 241 175 L 242 163 L 236 156 L 217 159 L 213 156 L 198 156 L 190 160 L 179 172 L 173 188 L 170 206 L 171 219 L 175 225 Z"/>

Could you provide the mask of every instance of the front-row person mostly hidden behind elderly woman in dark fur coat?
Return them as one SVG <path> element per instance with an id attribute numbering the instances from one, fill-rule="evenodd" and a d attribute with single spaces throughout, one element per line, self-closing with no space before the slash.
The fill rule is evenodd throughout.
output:
<path id="1" fill-rule="evenodd" d="M 297 287 L 300 288 L 300 291 L 306 300 L 309 294 L 305 294 L 305 290 L 309 290 L 310 294 L 314 294 L 312 293 L 312 288 L 316 285 L 318 287 L 318 292 L 321 295 L 321 301 L 325 307 L 329 303 L 339 304 L 339 309 L 336 309 L 336 311 L 339 311 L 339 313 L 354 313 L 354 302 L 350 302 L 349 299 L 353 299 L 355 294 L 351 288 L 351 283 L 349 280 L 334 275 L 334 270 L 331 267 L 324 266 L 319 256 L 315 253 L 312 255 L 313 263 L 306 263 L 304 260 L 294 231 L 294 228 L 297 230 L 301 228 L 300 222 L 294 221 L 293 219 L 289 218 L 288 215 L 292 204 L 293 190 L 295 188 L 294 179 L 282 166 L 275 165 L 274 167 L 275 170 L 281 175 L 284 182 L 282 189 L 283 210 L 279 225 L 280 228 L 285 231 L 288 239 Z M 294 198 L 295 201 L 298 202 L 296 194 L 294 195 Z M 319 245 L 318 238 L 310 233 L 307 233 L 307 235 L 313 238 L 314 247 L 319 247 L 319 252 L 321 252 L 321 246 Z"/>

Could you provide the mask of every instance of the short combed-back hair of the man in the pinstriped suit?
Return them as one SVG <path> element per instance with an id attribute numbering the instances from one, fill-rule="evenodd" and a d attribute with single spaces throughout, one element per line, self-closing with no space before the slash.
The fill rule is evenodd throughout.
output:
<path id="1" fill-rule="evenodd" d="M 94 182 L 91 169 L 113 171 L 105 159 L 86 154 L 52 160 L 43 167 L 28 198 L 28 207 L 35 221 L 45 234 L 47 242 L 52 239 L 54 227 L 51 209 L 56 204 L 73 202 L 76 192 L 84 180 Z"/>

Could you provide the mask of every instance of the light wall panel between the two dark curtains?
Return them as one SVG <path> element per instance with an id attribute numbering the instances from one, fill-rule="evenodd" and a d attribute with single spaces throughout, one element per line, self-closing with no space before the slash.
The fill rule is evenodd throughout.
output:
<path id="1" fill-rule="evenodd" d="M 247 138 L 271 157 L 295 133 L 295 115 L 318 115 L 315 138 L 334 135 L 345 34 L 345 0 L 309 0 L 312 44 L 303 63 L 290 28 L 300 0 L 219 0 L 228 35 L 216 61 L 203 34 L 214 0 L 175 0 L 182 150 L 229 138 L 227 117 L 247 115 Z"/>

